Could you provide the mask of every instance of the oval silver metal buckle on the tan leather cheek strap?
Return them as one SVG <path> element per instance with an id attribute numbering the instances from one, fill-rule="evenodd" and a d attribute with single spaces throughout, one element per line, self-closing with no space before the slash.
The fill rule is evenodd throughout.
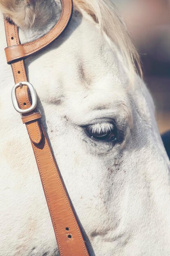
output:
<path id="1" fill-rule="evenodd" d="M 18 88 L 18 87 L 22 88 L 23 85 L 27 85 L 28 86 L 30 94 L 31 94 L 31 99 L 32 99 L 31 107 L 30 108 L 26 108 L 26 109 L 21 109 L 21 108 L 18 107 L 17 98 L 16 98 L 16 94 L 15 94 L 16 88 Z M 17 112 L 19 112 L 21 114 L 29 113 L 32 110 L 34 110 L 35 107 L 37 106 L 37 95 L 36 95 L 35 89 L 34 89 L 34 87 L 33 87 L 33 85 L 31 83 L 20 82 L 20 83 L 15 84 L 13 89 L 12 89 L 12 92 L 11 92 L 11 97 L 12 97 L 12 103 L 13 103 L 13 106 L 14 106 L 15 110 L 17 110 Z"/>

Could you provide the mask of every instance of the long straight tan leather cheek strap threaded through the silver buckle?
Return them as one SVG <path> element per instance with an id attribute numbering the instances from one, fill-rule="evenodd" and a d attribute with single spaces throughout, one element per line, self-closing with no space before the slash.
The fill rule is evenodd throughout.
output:
<path id="1" fill-rule="evenodd" d="M 69 4 L 70 0 L 63 2 Z M 65 13 L 65 15 L 68 16 L 71 14 Z M 10 24 L 7 20 L 4 20 L 4 23 L 8 47 L 19 45 L 16 26 Z M 47 38 L 44 38 L 45 41 L 46 39 Z M 45 41 L 44 43 L 49 43 L 49 39 Z M 13 59 L 13 56 L 11 55 L 10 58 Z M 12 70 L 15 83 L 27 81 L 23 60 L 13 63 Z M 31 97 L 26 85 L 18 87 L 15 94 L 18 106 L 21 109 L 26 109 L 31 106 Z M 65 190 L 61 174 L 59 173 L 40 118 L 40 113 L 35 109 L 28 114 L 24 114 L 22 121 L 26 124 L 28 135 L 31 139 L 60 255 L 88 256 L 89 254 L 81 230 L 72 210 L 68 194 Z"/>

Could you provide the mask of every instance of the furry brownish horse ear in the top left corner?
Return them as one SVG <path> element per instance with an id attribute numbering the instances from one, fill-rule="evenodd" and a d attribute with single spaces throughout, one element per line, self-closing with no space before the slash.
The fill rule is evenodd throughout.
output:
<path id="1" fill-rule="evenodd" d="M 35 22 L 36 0 L 0 0 L 0 10 L 18 27 L 32 27 Z"/>

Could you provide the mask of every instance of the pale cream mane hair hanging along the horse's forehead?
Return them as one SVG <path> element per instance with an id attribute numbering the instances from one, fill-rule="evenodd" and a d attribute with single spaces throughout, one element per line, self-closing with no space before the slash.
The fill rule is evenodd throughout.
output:
<path id="1" fill-rule="evenodd" d="M 98 23 L 100 30 L 117 45 L 129 67 L 129 71 L 139 72 L 142 67 L 139 54 L 131 40 L 131 36 L 119 14 L 113 0 L 74 0 L 79 9 L 86 11 Z"/>

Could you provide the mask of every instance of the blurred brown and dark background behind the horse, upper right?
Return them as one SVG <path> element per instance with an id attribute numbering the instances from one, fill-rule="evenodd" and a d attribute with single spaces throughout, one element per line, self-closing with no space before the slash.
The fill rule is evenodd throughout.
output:
<path id="1" fill-rule="evenodd" d="M 141 57 L 161 133 L 170 130 L 170 0 L 114 0 Z"/>

